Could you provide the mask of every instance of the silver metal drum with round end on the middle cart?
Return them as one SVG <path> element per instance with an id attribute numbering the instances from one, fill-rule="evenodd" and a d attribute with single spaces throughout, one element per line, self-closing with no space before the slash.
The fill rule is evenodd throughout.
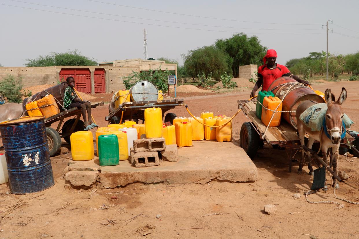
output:
<path id="1" fill-rule="evenodd" d="M 155 101 L 158 90 L 150 81 L 137 81 L 130 89 L 131 101 Z"/>

